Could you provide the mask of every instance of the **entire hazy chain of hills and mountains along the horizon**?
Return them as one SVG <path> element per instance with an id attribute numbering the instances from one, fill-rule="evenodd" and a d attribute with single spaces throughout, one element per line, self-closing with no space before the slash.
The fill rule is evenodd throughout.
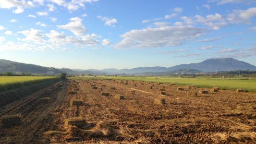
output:
<path id="1" fill-rule="evenodd" d="M 58 74 L 66 72 L 68 74 L 138 74 L 138 75 L 168 75 L 172 73 L 199 73 L 199 72 L 219 72 L 219 71 L 236 71 L 247 70 L 256 71 L 256 66 L 244 61 L 232 58 L 225 59 L 207 59 L 199 63 L 180 64 L 173 67 L 138 67 L 133 69 L 103 69 L 103 70 L 81 70 L 81 69 L 56 69 L 42 67 L 34 64 L 25 64 L 10 60 L 0 60 L 0 72 L 29 72 L 29 73 L 49 73 Z"/>

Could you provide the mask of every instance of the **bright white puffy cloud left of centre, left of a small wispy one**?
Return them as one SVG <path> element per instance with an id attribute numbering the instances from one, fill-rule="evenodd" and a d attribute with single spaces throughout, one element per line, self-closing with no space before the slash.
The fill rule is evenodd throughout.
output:
<path id="1" fill-rule="evenodd" d="M 86 28 L 82 24 L 82 19 L 75 17 L 70 19 L 72 22 L 65 25 L 57 25 L 58 28 L 67 29 L 73 32 L 74 35 L 83 35 L 86 33 Z"/>

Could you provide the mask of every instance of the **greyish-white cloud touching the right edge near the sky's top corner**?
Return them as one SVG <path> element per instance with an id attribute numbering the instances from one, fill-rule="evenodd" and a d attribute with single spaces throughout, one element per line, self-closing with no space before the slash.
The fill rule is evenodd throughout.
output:
<path id="1" fill-rule="evenodd" d="M 251 23 L 250 19 L 256 16 L 256 7 L 249 8 L 247 10 L 233 10 L 228 14 L 227 20 L 231 23 Z"/>

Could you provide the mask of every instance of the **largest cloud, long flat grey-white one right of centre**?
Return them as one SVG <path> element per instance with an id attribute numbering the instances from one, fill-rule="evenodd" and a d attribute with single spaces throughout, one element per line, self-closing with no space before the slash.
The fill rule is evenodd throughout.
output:
<path id="1" fill-rule="evenodd" d="M 131 30 L 123 34 L 117 48 L 161 48 L 183 44 L 202 36 L 206 29 L 194 26 L 164 26 Z"/>

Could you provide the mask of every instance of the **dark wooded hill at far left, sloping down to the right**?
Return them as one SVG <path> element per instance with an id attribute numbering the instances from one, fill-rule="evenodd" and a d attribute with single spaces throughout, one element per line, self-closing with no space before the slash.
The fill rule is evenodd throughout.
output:
<path id="1" fill-rule="evenodd" d="M 60 70 L 55 68 L 20 63 L 11 60 L 0 60 L 0 72 L 61 73 Z"/>

